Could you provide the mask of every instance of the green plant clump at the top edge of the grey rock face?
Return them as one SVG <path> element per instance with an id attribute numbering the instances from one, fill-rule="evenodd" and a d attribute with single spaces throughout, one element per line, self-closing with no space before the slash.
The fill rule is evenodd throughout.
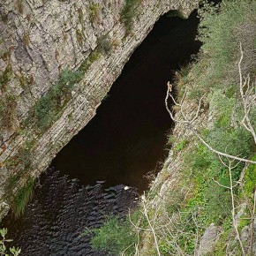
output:
<path id="1" fill-rule="evenodd" d="M 138 13 L 141 0 L 125 0 L 124 8 L 121 11 L 121 22 L 124 23 L 126 34 L 130 34 L 133 26 L 133 19 Z"/>

